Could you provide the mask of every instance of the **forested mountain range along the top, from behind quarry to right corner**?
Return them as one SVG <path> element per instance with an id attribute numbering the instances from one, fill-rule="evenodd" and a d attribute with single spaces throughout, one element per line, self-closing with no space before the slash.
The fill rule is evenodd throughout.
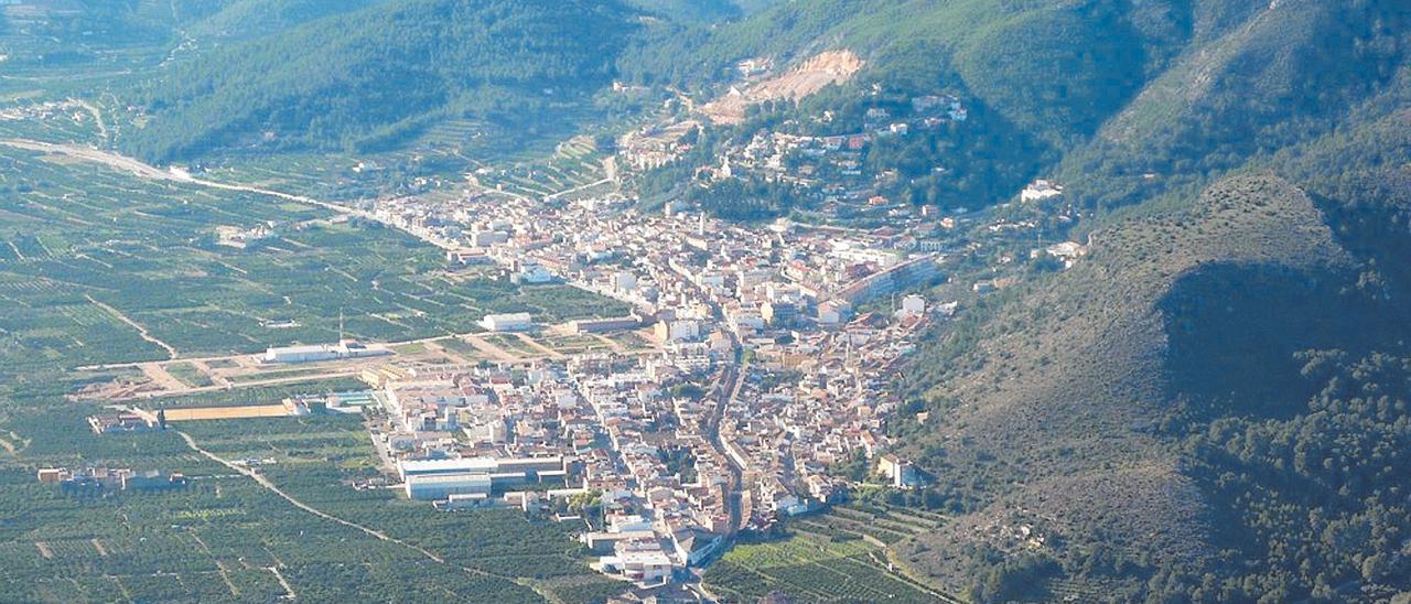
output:
<path id="1" fill-rule="evenodd" d="M 1408 18 L 1390 0 L 799 0 L 717 27 L 652 24 L 619 71 L 714 95 L 735 61 L 847 48 L 866 66 L 835 97 L 959 95 L 992 113 L 971 128 L 999 124 L 1043 159 L 1023 176 L 1058 175 L 1079 205 L 1112 209 L 1195 193 L 1329 131 L 1405 62 Z"/>

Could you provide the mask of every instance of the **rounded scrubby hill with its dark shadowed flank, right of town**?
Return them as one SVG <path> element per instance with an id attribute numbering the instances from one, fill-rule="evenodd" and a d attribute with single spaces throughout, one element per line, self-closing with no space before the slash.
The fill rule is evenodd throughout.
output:
<path id="1" fill-rule="evenodd" d="M 940 501 L 968 514 L 904 550 L 982 600 L 998 597 L 995 587 L 986 593 L 969 577 L 1005 560 L 1005 552 L 1024 550 L 1020 526 L 1046 538 L 1040 552 L 1060 560 L 1055 577 L 1126 581 L 1129 598 L 1212 597 L 1209 588 L 1221 590 L 1219 598 L 1254 598 L 1266 590 L 1308 594 L 1356 579 L 1297 573 L 1312 553 L 1273 543 L 1312 543 L 1319 532 L 1290 533 L 1288 525 L 1274 528 L 1260 517 L 1297 491 L 1249 500 L 1242 488 L 1268 493 L 1254 483 L 1276 477 L 1250 473 L 1254 463 L 1242 466 L 1239 454 L 1221 457 L 1212 447 L 1233 446 L 1221 435 L 1235 430 L 1285 429 L 1266 422 L 1287 422 L 1297 432 L 1312 422 L 1307 413 L 1343 405 L 1328 401 L 1350 401 L 1349 388 L 1363 388 L 1321 375 L 1349 371 L 1360 380 L 1359 363 L 1400 363 L 1377 350 L 1401 349 L 1404 302 L 1391 310 L 1359 288 L 1357 267 L 1314 202 L 1271 174 L 1232 176 L 1188 210 L 1101 230 L 1085 262 L 1002 305 L 968 353 L 940 356 L 945 339 L 959 336 L 952 332 L 914 363 L 923 373 L 917 380 L 934 384 L 928 408 L 947 419 L 912 440 L 912 453 L 937 477 Z M 1328 357 L 1319 364 L 1325 368 L 1308 368 L 1314 357 Z M 933 371 L 945 374 L 924 375 Z M 1363 418 L 1381 409 L 1387 421 L 1405 423 L 1404 382 L 1366 388 L 1390 398 L 1370 409 L 1346 402 L 1352 412 Z M 1366 446 L 1400 446 L 1400 439 L 1393 430 Z M 1254 453 L 1243 454 L 1247 461 Z M 1352 466 L 1345 471 L 1360 473 Z M 1226 473 L 1250 484 L 1230 484 Z M 1328 483 L 1298 480 L 1315 478 Z M 1332 491 L 1346 480 L 1333 480 Z M 1404 477 L 1356 480 L 1367 498 L 1408 487 L 1398 484 Z M 1326 521 L 1398 505 L 1364 501 L 1360 493 L 1328 500 Z M 1315 501 L 1300 500 L 1305 509 Z M 1404 531 L 1395 526 L 1400 521 L 1377 524 L 1377 531 Z M 1398 546 L 1353 539 L 1318 553 L 1325 566 L 1314 567 L 1350 569 L 1376 553 L 1394 556 Z M 1246 560 L 1263 562 L 1221 570 Z M 1192 591 L 1202 573 L 1213 573 L 1216 587 Z M 1157 576 L 1171 583 L 1146 584 Z M 1379 570 L 1366 579 L 1387 576 Z"/>

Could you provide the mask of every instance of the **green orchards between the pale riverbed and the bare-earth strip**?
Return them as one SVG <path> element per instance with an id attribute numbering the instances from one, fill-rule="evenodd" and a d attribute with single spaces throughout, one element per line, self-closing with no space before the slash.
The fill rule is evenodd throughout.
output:
<path id="1" fill-rule="evenodd" d="M 621 305 L 564 285 L 453 278 L 439 253 L 374 223 L 260 195 L 141 181 L 0 148 L 0 367 L 233 354 L 478 330 L 485 313 L 540 322 Z M 274 224 L 246 250 L 214 226 Z M 275 329 L 272 325 L 296 325 Z"/>

